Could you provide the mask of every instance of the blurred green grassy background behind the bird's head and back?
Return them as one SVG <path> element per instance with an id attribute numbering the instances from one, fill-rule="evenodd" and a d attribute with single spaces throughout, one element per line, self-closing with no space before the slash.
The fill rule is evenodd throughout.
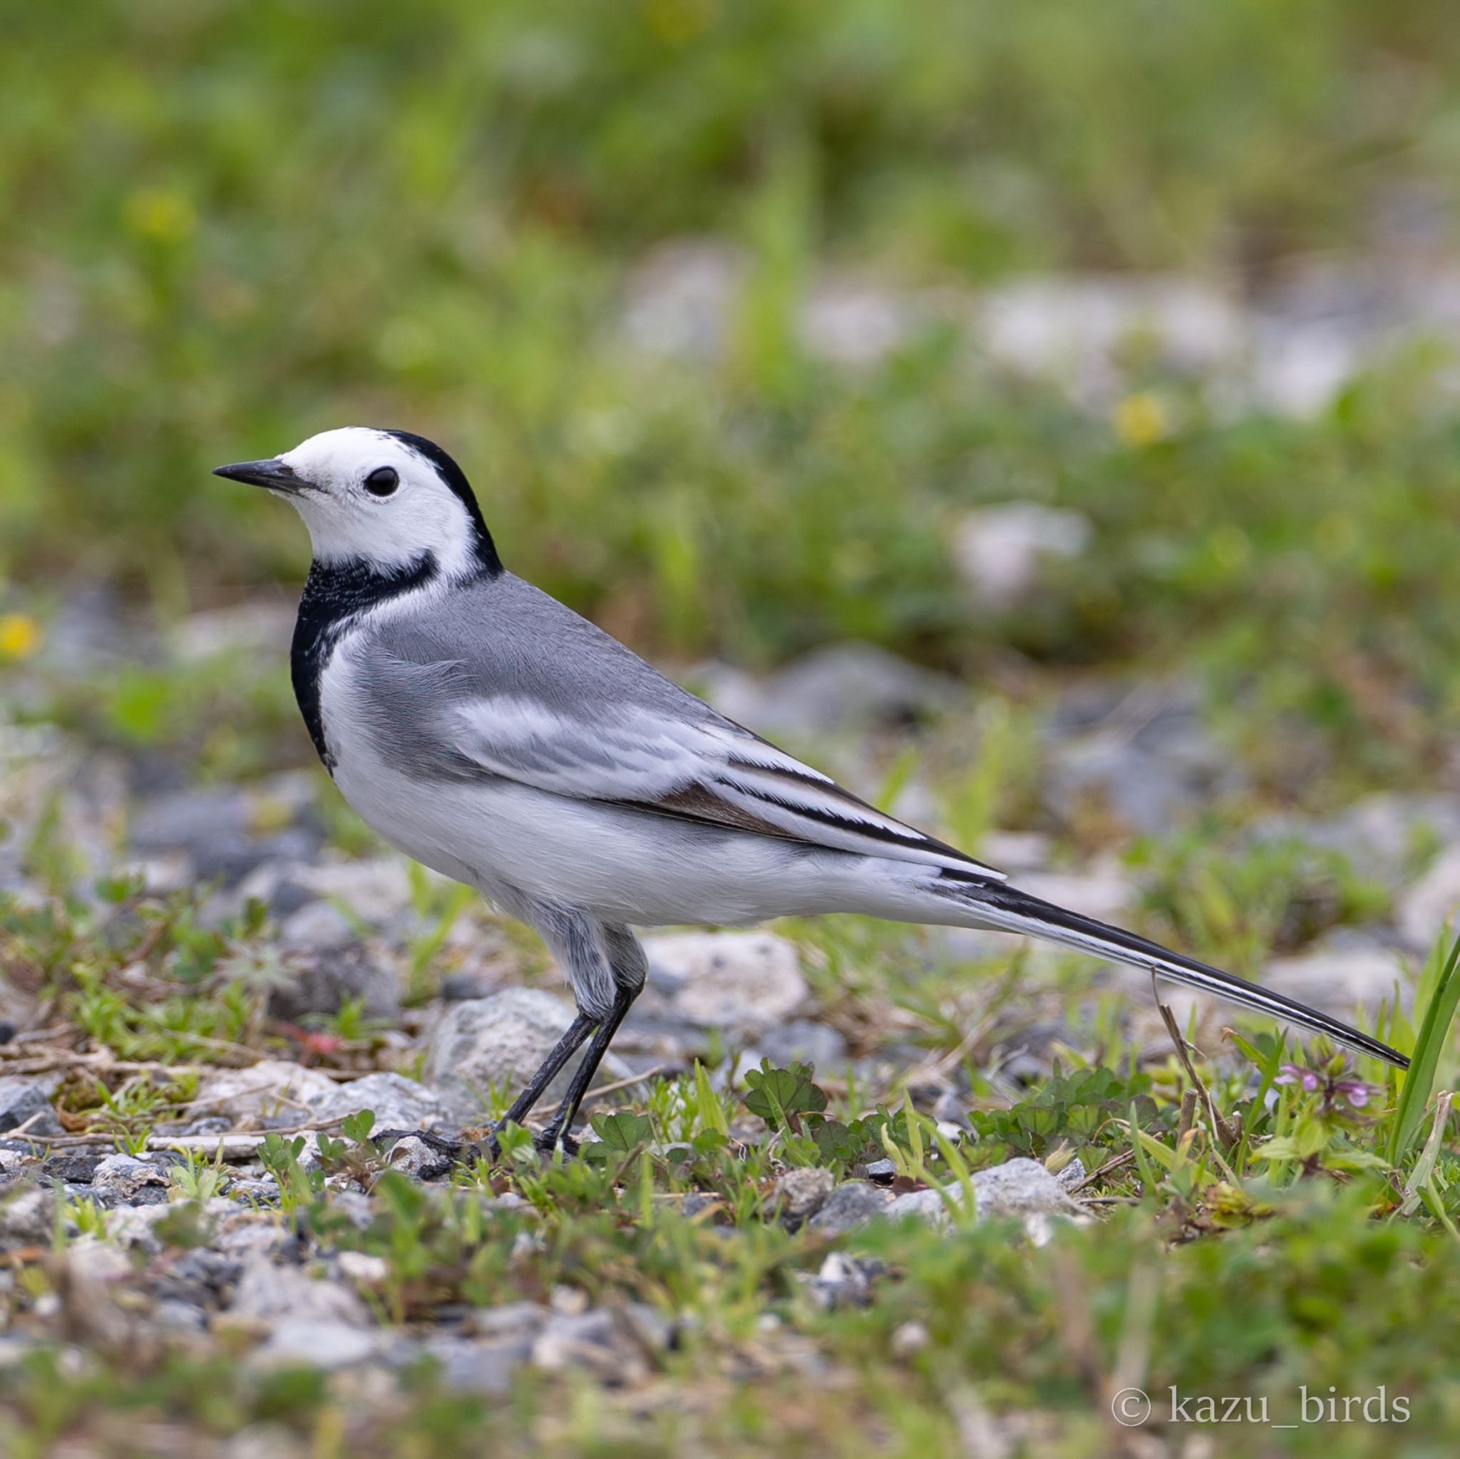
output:
<path id="1" fill-rule="evenodd" d="M 1294 411 L 1140 331 L 1095 388 L 1000 368 L 978 312 L 1025 276 L 1181 277 L 1261 350 L 1285 289 L 1327 277 L 1342 312 L 1323 268 L 1358 260 L 1381 292 L 1413 276 L 1409 314 L 1440 320 L 1460 236 L 1442 6 L 3 13 L 12 605 L 44 617 L 101 579 L 175 620 L 292 582 L 292 515 L 209 467 L 378 423 L 461 460 L 510 566 L 670 659 L 863 638 L 969 677 L 1009 649 L 1037 673 L 1196 667 L 1361 778 L 1444 757 L 1444 330 Z M 708 344 L 664 347 L 682 239 L 718 314 Z M 899 321 L 870 355 L 804 324 L 847 276 Z M 974 611 L 952 534 L 1015 499 L 1079 511 L 1094 547 L 1018 611 Z"/>

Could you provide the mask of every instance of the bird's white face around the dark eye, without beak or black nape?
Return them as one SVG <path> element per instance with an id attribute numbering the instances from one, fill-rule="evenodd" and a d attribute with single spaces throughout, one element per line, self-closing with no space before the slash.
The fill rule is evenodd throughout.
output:
<path id="1" fill-rule="evenodd" d="M 403 568 L 429 552 L 447 573 L 470 566 L 476 528 L 466 505 L 431 461 L 384 430 L 326 430 L 280 461 L 299 487 L 277 495 L 304 518 L 320 562 Z"/>

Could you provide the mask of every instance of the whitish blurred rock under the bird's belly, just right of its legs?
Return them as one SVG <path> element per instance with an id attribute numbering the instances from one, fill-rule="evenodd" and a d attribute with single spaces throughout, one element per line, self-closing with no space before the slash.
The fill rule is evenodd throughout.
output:
<path id="1" fill-rule="evenodd" d="M 806 1001 L 796 948 L 774 932 L 672 932 L 644 940 L 650 978 L 675 1011 L 711 1027 L 766 1027 Z"/>

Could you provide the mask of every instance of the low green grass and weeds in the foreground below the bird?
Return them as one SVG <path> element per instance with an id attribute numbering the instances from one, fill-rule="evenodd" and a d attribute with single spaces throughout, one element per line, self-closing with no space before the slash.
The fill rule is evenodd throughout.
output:
<path id="1" fill-rule="evenodd" d="M 83 1029 L 95 1020 L 88 1010 L 98 988 L 110 988 L 117 1007 L 107 1040 L 120 1045 L 130 1030 L 147 1040 L 137 1052 L 174 1065 L 126 1065 L 63 1085 L 70 1128 L 139 1150 L 156 1121 L 193 1096 L 196 1078 L 181 1059 L 210 1058 L 191 1027 L 164 1030 L 149 1010 L 166 1005 L 169 983 L 190 983 L 194 1021 L 225 1018 L 242 996 L 226 969 L 266 948 L 272 934 L 245 918 L 199 944 L 188 902 L 128 897 L 117 903 L 121 915 L 80 900 L 44 918 L 4 910 L 0 954 L 12 975 L 39 979 L 60 1018 Z M 898 938 L 915 934 L 886 934 L 889 954 Z M 410 964 L 409 938 L 400 961 Z M 442 1389 L 426 1363 L 384 1377 L 364 1405 L 347 1396 L 349 1379 L 238 1367 L 229 1354 L 242 1351 L 239 1339 L 223 1329 L 207 1342 L 136 1350 L 98 1339 L 82 1360 L 63 1361 L 42 1345 L 0 1373 L 12 1452 L 41 1455 L 64 1436 L 126 1453 L 126 1423 L 201 1444 L 269 1420 L 324 1453 L 343 1452 L 331 1444 L 362 1455 L 470 1453 L 488 1439 L 496 1452 L 524 1455 L 616 1444 L 666 1455 L 686 1446 L 712 1455 L 793 1456 L 807 1446 L 953 1453 L 977 1412 L 991 1415 L 1010 1452 L 1057 1444 L 1096 1456 L 1115 1441 L 1108 1405 L 1127 1386 L 1153 1395 L 1150 1431 L 1168 1439 L 1183 1433 L 1161 1406 L 1172 1386 L 1197 1399 L 1266 1399 L 1273 1421 L 1294 1417 L 1304 1389 L 1364 1399 L 1383 1388 L 1388 1402 L 1406 1401 L 1403 1427 L 1391 1415 L 1345 1428 L 1308 1423 L 1282 1437 L 1263 1430 L 1260 1452 L 1337 1446 L 1361 1456 L 1396 1443 L 1422 1452 L 1448 1431 L 1460 1401 L 1445 1358 L 1460 1336 L 1450 1331 L 1460 1296 L 1460 1157 L 1448 1126 L 1418 1138 L 1431 1088 L 1453 1088 L 1460 1077 L 1450 1037 L 1454 963 L 1453 950 L 1432 960 L 1418 1042 L 1403 1020 L 1388 1026 L 1402 1048 L 1413 1046 L 1407 1080 L 1321 1046 L 1288 1048 L 1247 1021 L 1248 1034 L 1218 1058 L 1193 1053 L 1187 1064 L 1172 1052 L 1140 1067 L 1118 1040 L 1091 1030 L 1094 1043 L 1066 1049 L 1063 1068 L 1022 1094 L 980 1093 L 975 1083 L 971 1134 L 958 1141 L 895 1085 L 844 1091 L 835 1077 L 823 1087 L 809 1068 L 768 1064 L 742 1093 L 717 1091 L 696 1067 L 634 1103 L 593 1112 L 574 1161 L 542 1164 L 526 1132 L 507 1131 L 499 1161 L 466 1167 L 444 1188 L 391 1172 L 371 1142 L 369 1116 L 321 1134 L 310 1166 L 299 1163 L 302 1138 L 270 1135 L 260 1157 L 279 1180 L 280 1220 L 311 1233 L 315 1259 L 339 1250 L 378 1259 L 383 1275 L 366 1294 L 380 1320 L 428 1331 L 463 1306 L 540 1301 L 572 1288 L 593 1304 L 644 1304 L 679 1334 L 675 1344 L 635 1358 L 639 1376 L 626 1389 L 529 1373 L 511 1398 L 464 1398 Z M 964 967 L 955 983 L 987 998 L 1004 972 L 980 976 Z M 1023 976 L 1019 986 L 1029 998 L 1041 979 L 1031 986 Z M 896 1026 L 927 1017 L 920 999 L 930 991 L 917 982 L 889 982 L 876 996 L 896 1011 Z M 930 1018 L 926 1029 L 934 1050 L 955 1048 L 962 1033 L 956 1018 Z M 257 1018 L 238 1037 L 257 1053 L 286 1052 Z M 821 1166 L 847 1177 L 883 1156 L 904 1189 L 946 1189 L 946 1231 L 873 1226 L 828 1243 L 778 1220 L 780 1173 Z M 1040 1246 L 1016 1224 L 981 1215 L 968 1201 L 971 1179 L 1016 1156 L 1051 1169 L 1077 1157 L 1088 1172 L 1104 1170 L 1082 1191 L 1096 1198 L 1088 1223 L 1057 1224 Z M 199 1202 L 225 1173 L 197 1154 L 175 1170 L 174 1208 L 158 1227 L 172 1250 L 206 1239 Z M 374 1192 L 368 1224 L 339 1204 L 339 1179 Z M 504 1193 L 521 1201 L 495 1199 Z M 691 1195 L 712 1204 L 686 1215 Z M 110 1239 L 108 1221 L 70 1202 L 58 1247 L 80 1236 Z M 882 1263 L 869 1306 L 828 1309 L 807 1285 L 835 1247 Z M 31 1332 L 39 1322 L 44 1331 L 47 1303 L 58 1299 L 67 1310 L 72 1300 L 55 1285 L 60 1268 L 38 1250 L 15 1262 L 9 1326 Z M 799 1376 L 809 1352 L 813 1382 Z M 1256 1430 L 1203 1431 L 1216 1443 L 1212 1453 L 1254 1452 Z M 429 1450 L 419 1447 L 422 1433 L 432 1436 Z"/>

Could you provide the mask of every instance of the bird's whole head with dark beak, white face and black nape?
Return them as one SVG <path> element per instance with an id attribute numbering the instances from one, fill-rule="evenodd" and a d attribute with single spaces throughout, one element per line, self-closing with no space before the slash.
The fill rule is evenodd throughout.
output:
<path id="1" fill-rule="evenodd" d="M 310 528 L 317 562 L 390 572 L 429 553 L 451 576 L 501 570 L 461 468 L 407 430 L 324 430 L 282 457 L 213 474 L 286 496 Z"/>

